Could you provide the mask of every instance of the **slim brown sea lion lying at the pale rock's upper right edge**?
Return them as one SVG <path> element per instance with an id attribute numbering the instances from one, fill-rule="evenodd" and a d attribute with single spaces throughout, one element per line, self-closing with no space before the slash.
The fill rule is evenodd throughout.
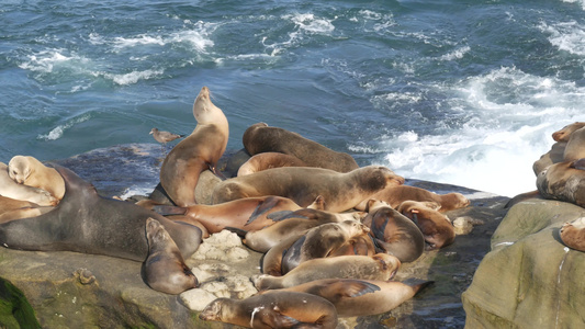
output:
<path id="1" fill-rule="evenodd" d="M 308 229 L 327 223 L 340 223 L 347 219 L 361 220 L 363 212 L 333 213 L 327 211 L 302 208 L 292 213 L 272 213 L 268 215 L 274 224 L 260 230 L 246 232 L 241 242 L 258 252 L 267 252 L 286 237 L 306 232 Z"/>

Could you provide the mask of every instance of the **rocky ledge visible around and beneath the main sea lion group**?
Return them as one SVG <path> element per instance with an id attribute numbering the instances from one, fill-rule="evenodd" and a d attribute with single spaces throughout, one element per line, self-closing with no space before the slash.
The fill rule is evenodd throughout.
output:
<path id="1" fill-rule="evenodd" d="M 161 158 L 158 145 L 124 145 L 56 162 L 92 182 L 102 195 L 120 196 L 140 189 L 151 191 L 158 182 Z M 417 261 L 404 263 L 395 277 L 396 281 L 432 280 L 434 285 L 390 313 L 340 319 L 339 328 L 462 328 L 465 324 L 461 294 L 493 246 L 491 238 L 506 214 L 504 205 L 508 198 L 454 185 L 415 180 L 406 183 L 438 193 L 463 193 L 471 205 L 447 215 L 468 227 L 460 231 L 453 245 L 426 251 Z M 217 251 L 213 239 L 235 249 Z M 216 296 L 241 297 L 255 292 L 247 279 L 259 273 L 261 254 L 230 239 L 229 235 L 212 236 L 185 260 L 202 288 L 178 296 L 150 290 L 143 281 L 139 262 L 75 252 L 0 248 L 0 327 L 232 328 L 202 322 L 196 311 L 201 304 Z M 511 240 L 506 237 L 502 241 Z M 511 247 L 518 248 L 506 249 Z M 229 257 L 224 258 L 226 254 Z M 502 265 L 511 266 L 509 261 Z M 559 264 L 550 266 L 559 268 Z M 498 277 L 497 274 L 492 276 Z M 473 288 L 465 293 L 465 300 L 472 299 Z"/>

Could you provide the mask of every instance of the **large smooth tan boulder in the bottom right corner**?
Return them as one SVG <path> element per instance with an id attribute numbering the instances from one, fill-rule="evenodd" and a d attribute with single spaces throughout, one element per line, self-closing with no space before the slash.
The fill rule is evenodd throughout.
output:
<path id="1" fill-rule="evenodd" d="M 574 204 L 528 200 L 513 206 L 462 295 L 466 328 L 584 328 L 585 253 L 559 229 L 582 217 Z"/>

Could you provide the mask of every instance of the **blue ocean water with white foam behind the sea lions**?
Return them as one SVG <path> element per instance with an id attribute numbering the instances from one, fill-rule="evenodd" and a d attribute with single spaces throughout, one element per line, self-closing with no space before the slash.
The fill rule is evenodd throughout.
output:
<path id="1" fill-rule="evenodd" d="M 585 121 L 585 2 L 41 1 L 0 7 L 0 161 L 257 122 L 409 178 L 513 196 Z"/>

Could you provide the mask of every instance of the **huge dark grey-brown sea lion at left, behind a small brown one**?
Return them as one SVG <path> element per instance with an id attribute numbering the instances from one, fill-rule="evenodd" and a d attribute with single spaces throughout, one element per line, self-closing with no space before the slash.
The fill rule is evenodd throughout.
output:
<path id="1" fill-rule="evenodd" d="M 102 197 L 95 188 L 67 168 L 55 166 L 65 195 L 50 212 L 0 225 L 0 245 L 20 250 L 77 251 L 144 262 L 146 219 L 165 226 L 181 253 L 190 257 L 201 243 L 201 230 L 169 220 L 131 202 Z"/>

